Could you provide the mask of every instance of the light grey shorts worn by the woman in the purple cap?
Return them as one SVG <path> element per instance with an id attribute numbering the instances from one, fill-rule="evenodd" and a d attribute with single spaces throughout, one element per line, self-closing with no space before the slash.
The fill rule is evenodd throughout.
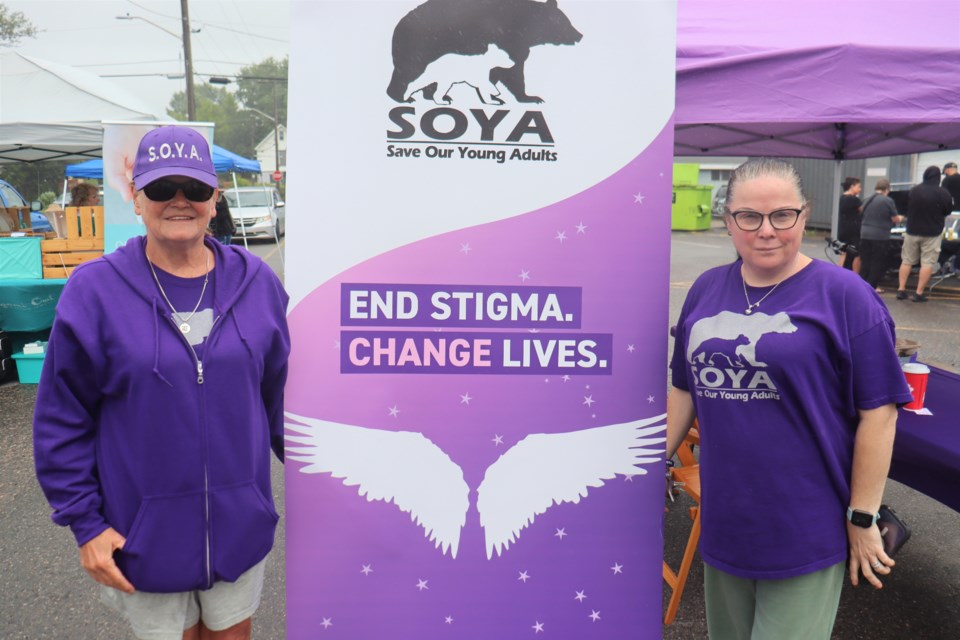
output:
<path id="1" fill-rule="evenodd" d="M 243 622 L 260 606 L 266 559 L 236 582 L 216 582 L 206 591 L 124 593 L 101 586 L 100 600 L 120 612 L 141 640 L 182 640 L 183 632 L 200 620 L 212 631 Z"/>

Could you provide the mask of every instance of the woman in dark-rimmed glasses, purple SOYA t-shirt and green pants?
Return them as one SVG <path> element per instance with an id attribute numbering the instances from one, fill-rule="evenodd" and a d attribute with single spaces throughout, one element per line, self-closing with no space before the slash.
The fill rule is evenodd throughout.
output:
<path id="1" fill-rule="evenodd" d="M 854 585 L 894 565 L 874 514 L 911 396 L 871 287 L 800 253 L 796 170 L 752 160 L 727 193 L 739 259 L 681 311 L 667 454 L 698 418 L 710 637 L 828 639 L 848 558 Z"/>

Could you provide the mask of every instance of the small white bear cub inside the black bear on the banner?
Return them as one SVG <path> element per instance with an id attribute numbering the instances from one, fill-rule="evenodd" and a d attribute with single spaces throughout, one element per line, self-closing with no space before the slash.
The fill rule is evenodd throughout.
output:
<path id="1" fill-rule="evenodd" d="M 490 82 L 490 70 L 511 64 L 507 52 L 494 44 L 487 47 L 487 52 L 481 56 L 448 53 L 431 62 L 423 75 L 410 83 L 406 101 L 413 102 L 415 93 L 424 93 L 432 87 L 435 103 L 450 104 L 453 102 L 450 92 L 454 85 L 465 84 L 473 87 L 483 104 L 503 104 L 499 98 L 500 91 Z"/>

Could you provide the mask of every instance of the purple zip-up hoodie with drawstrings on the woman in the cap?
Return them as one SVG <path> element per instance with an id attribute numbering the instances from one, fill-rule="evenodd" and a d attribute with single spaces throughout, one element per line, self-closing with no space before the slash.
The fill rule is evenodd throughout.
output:
<path id="1" fill-rule="evenodd" d="M 144 243 L 67 281 L 37 392 L 37 478 L 78 545 L 107 527 L 126 537 L 115 557 L 138 591 L 208 589 L 273 546 L 288 296 L 259 258 L 208 239 L 215 321 L 201 382 Z"/>

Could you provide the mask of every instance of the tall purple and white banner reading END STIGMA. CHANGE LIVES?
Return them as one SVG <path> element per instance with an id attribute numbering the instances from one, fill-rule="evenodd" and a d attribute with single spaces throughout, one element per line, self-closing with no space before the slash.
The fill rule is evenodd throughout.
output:
<path id="1" fill-rule="evenodd" d="M 675 14 L 294 3 L 289 638 L 660 637 Z"/>

